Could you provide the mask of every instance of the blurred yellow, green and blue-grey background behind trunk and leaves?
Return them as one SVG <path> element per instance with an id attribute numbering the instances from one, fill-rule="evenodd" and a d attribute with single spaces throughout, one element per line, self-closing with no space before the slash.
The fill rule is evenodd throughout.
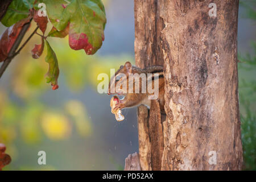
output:
<path id="1" fill-rule="evenodd" d="M 125 120 L 117 122 L 110 112 L 112 96 L 97 92 L 99 73 L 110 75 L 110 68 L 117 69 L 127 60 L 135 63 L 133 0 L 103 3 L 105 41 L 96 55 L 72 50 L 68 38 L 48 38 L 59 61 L 59 89 L 51 90 L 46 84 L 46 51 L 39 59 L 31 57 L 34 44 L 40 43 L 38 35 L 1 78 L 0 143 L 6 144 L 6 153 L 13 159 L 4 170 L 122 170 L 127 155 L 138 152 L 136 109 L 123 110 Z M 238 71 L 244 169 L 256 169 L 255 20 L 255 2 L 240 1 Z M 0 24 L 0 34 L 5 29 Z M 41 150 L 46 151 L 47 164 L 40 166 Z"/>

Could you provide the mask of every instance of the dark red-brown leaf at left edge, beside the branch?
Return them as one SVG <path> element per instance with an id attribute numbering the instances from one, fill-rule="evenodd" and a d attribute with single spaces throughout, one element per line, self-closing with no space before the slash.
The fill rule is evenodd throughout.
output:
<path id="1" fill-rule="evenodd" d="M 5 32 L 0 37 L 0 62 L 6 59 L 11 47 L 19 35 L 20 30 L 25 23 L 29 22 L 30 18 L 25 18 L 19 22 L 13 24 L 13 26 L 8 27 Z"/>

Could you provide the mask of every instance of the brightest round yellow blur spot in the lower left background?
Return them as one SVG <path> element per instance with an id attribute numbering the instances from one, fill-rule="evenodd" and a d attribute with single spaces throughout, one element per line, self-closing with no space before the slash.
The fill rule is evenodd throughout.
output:
<path id="1" fill-rule="evenodd" d="M 71 125 L 68 119 L 61 114 L 44 114 L 42 128 L 47 137 L 53 140 L 67 139 L 71 134 Z"/>

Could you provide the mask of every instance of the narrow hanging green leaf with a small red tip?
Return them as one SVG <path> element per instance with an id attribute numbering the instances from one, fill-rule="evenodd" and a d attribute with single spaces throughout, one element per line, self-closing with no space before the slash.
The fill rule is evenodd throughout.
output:
<path id="1" fill-rule="evenodd" d="M 46 82 L 51 82 L 52 89 L 55 90 L 59 88 L 57 84 L 57 79 L 59 77 L 59 65 L 57 61 L 57 57 L 55 52 L 52 50 L 51 46 L 46 40 L 46 47 L 47 47 L 47 55 L 46 55 L 46 63 L 49 64 L 48 72 L 46 73 Z"/>

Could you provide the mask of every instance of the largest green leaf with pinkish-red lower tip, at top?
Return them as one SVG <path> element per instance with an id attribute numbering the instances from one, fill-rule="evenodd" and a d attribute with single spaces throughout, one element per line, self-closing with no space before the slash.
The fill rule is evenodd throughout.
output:
<path id="1" fill-rule="evenodd" d="M 49 20 L 57 31 L 69 24 L 69 46 L 94 54 L 104 40 L 106 14 L 100 0 L 43 0 Z"/>

